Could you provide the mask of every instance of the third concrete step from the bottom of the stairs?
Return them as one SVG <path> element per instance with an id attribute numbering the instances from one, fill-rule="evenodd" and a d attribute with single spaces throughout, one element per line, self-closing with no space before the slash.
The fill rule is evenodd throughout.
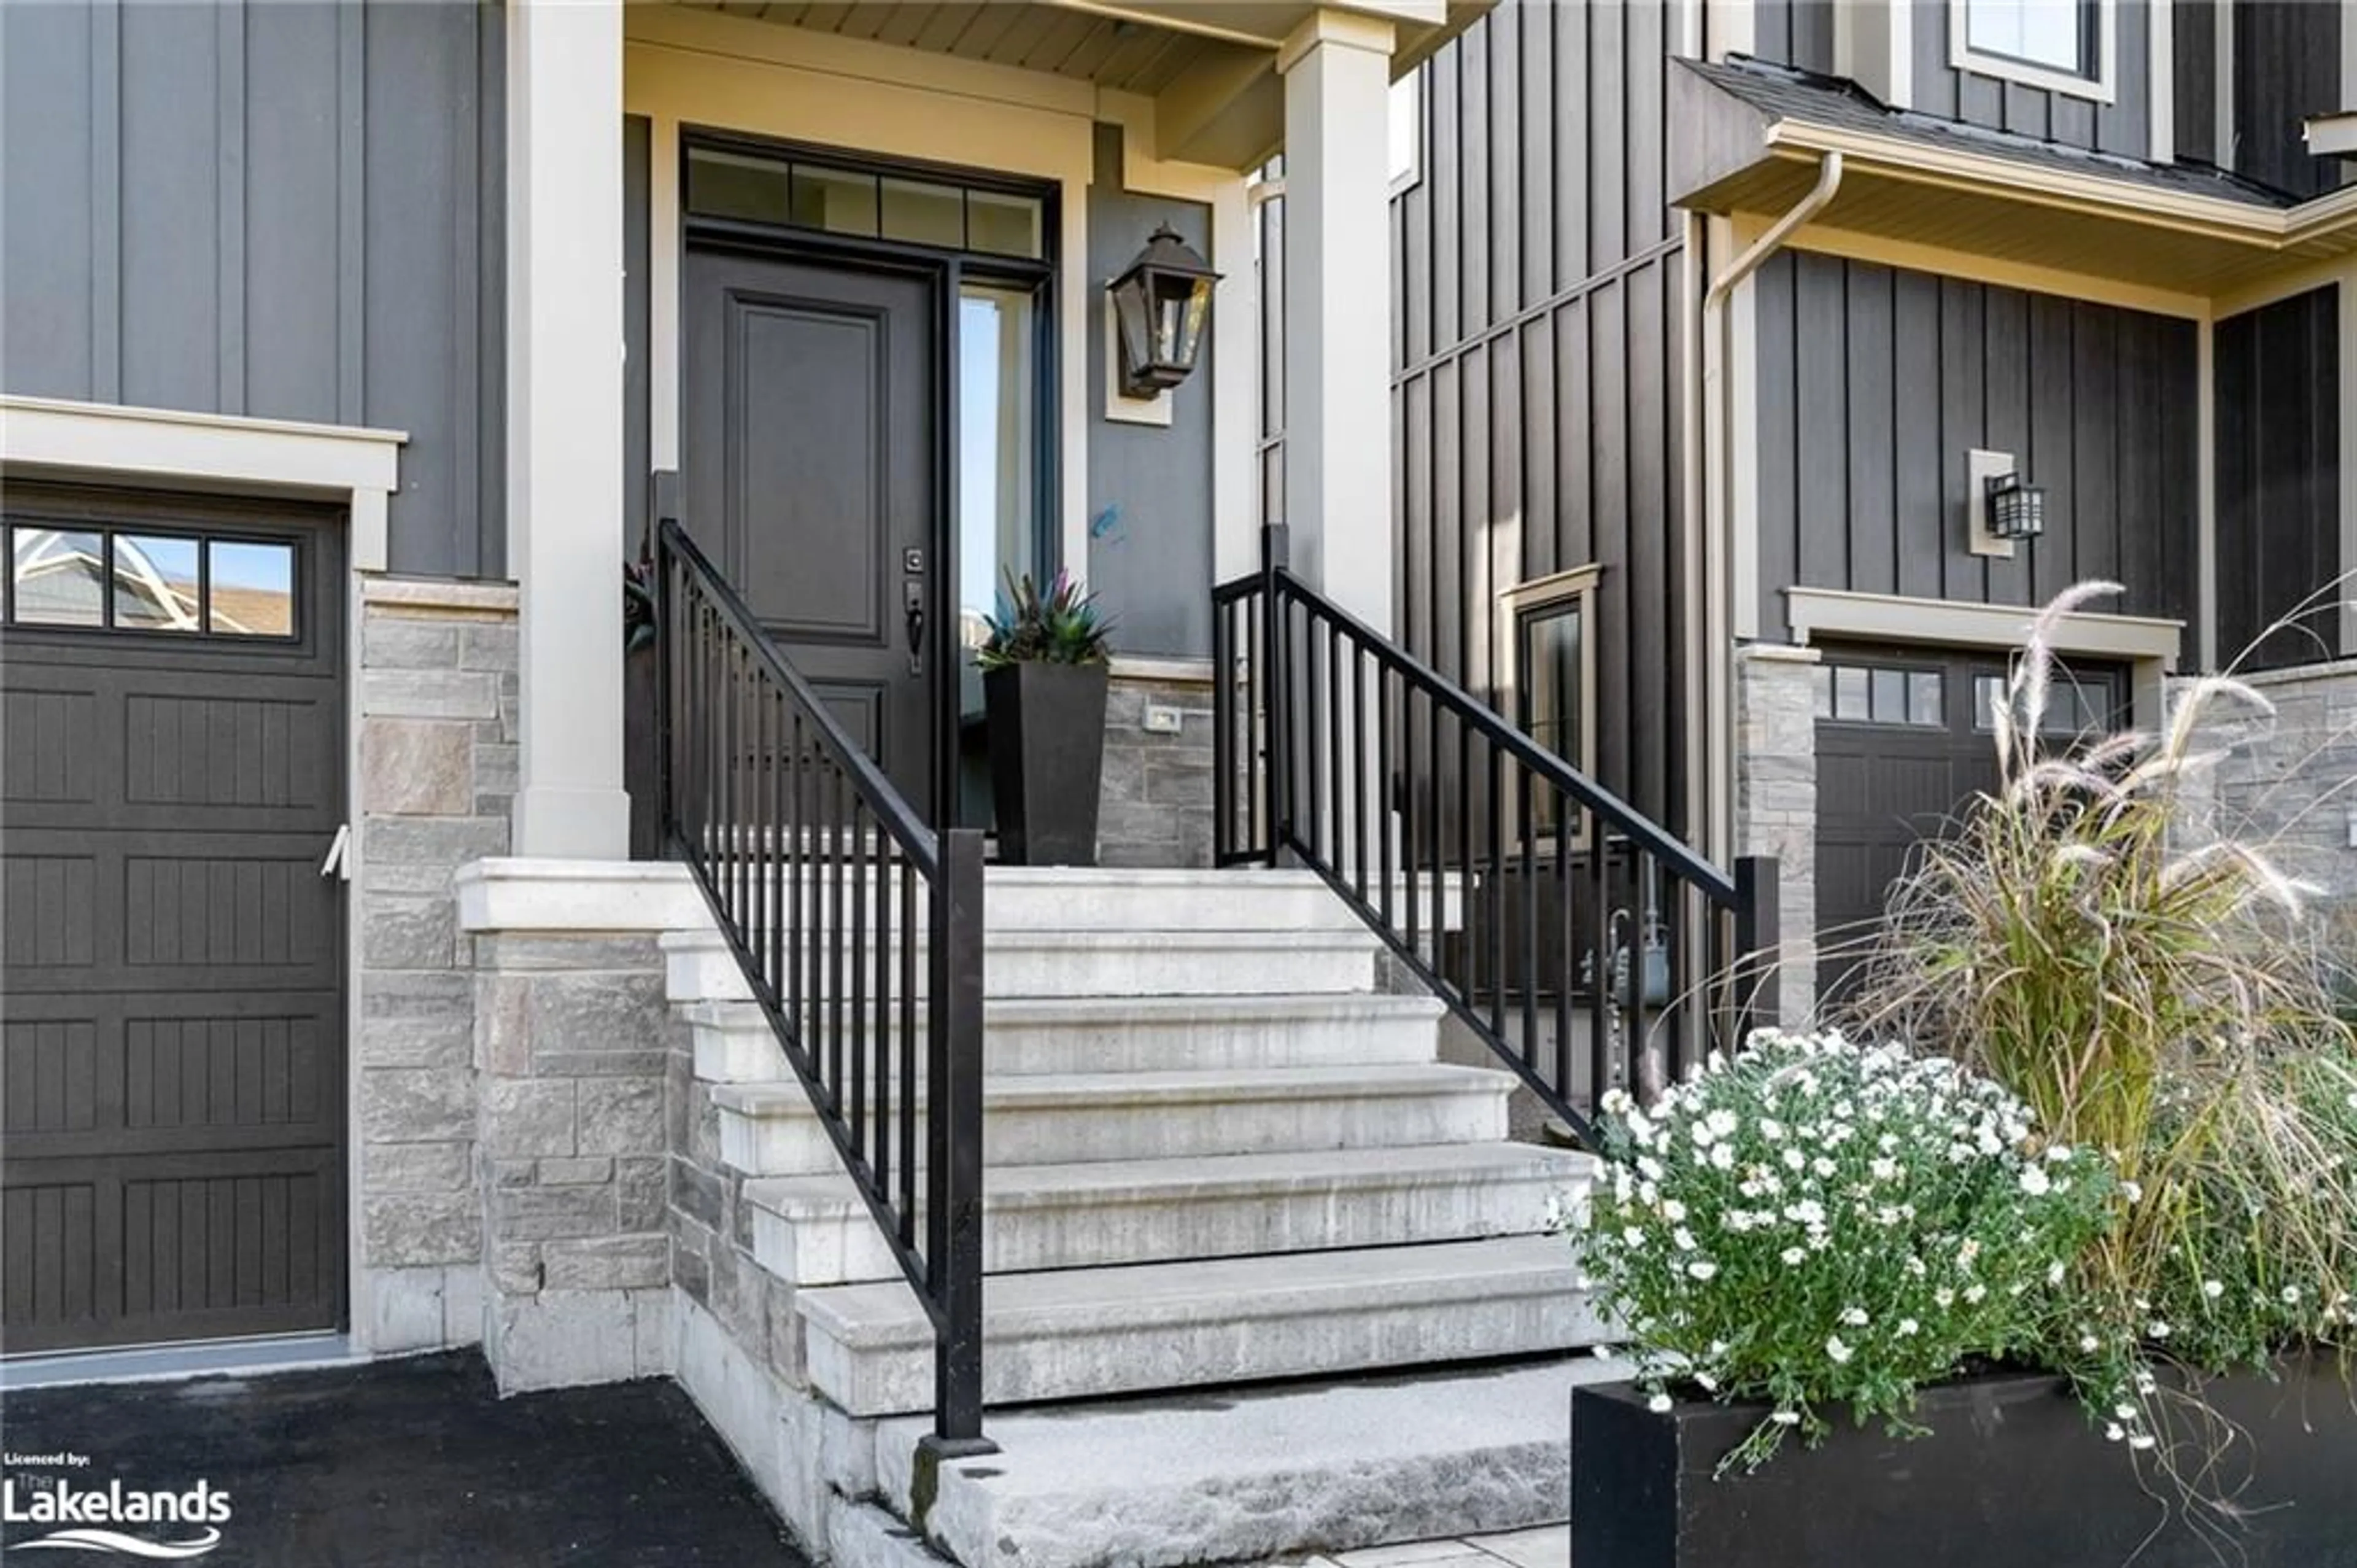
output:
<path id="1" fill-rule="evenodd" d="M 992 1273 L 1393 1247 L 1546 1228 L 1593 1155 L 1534 1144 L 1006 1165 L 985 1181 Z M 792 1285 L 900 1278 L 851 1177 L 745 1184 L 754 1259 Z"/>

